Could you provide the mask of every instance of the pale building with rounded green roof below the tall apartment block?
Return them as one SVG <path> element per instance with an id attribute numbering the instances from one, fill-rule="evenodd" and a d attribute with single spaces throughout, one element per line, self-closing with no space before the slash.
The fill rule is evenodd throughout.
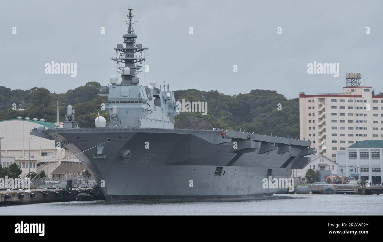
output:
<path id="1" fill-rule="evenodd" d="M 338 174 L 350 181 L 381 183 L 383 141 L 366 140 L 337 152 Z"/>

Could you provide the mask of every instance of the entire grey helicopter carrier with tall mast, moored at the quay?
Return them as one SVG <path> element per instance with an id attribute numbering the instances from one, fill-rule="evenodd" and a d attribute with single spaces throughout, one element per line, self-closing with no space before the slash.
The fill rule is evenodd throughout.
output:
<path id="1" fill-rule="evenodd" d="M 31 134 L 54 139 L 93 175 L 107 201 L 244 198 L 272 195 L 264 178 L 290 178 L 314 150 L 309 141 L 223 130 L 174 129 L 179 114 L 169 86 L 139 85 L 146 47 L 136 43 L 129 8 L 127 33 L 117 44 L 118 75 L 102 87 L 110 123 L 78 128 L 71 106 L 62 128 L 35 128 Z M 139 75 L 138 75 L 139 76 Z M 168 89 L 168 90 L 165 90 Z"/>

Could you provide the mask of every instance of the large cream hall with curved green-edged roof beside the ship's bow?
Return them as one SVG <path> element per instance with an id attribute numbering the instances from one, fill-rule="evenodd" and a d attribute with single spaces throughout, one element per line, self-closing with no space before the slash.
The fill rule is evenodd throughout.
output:
<path id="1" fill-rule="evenodd" d="M 79 160 L 69 150 L 56 148 L 53 140 L 29 134 L 30 129 L 40 125 L 54 128 L 54 123 L 37 120 L 11 119 L 0 121 L 0 137 L 3 137 L 0 140 L 0 164 L 3 167 L 8 167 L 12 163 L 18 164 L 23 171 L 21 175 L 29 172 L 39 173 L 44 170 L 49 178 L 54 178 L 54 171 L 56 170 L 56 179 L 63 175 L 66 177 L 78 175 L 79 170 L 82 172 L 85 168 L 82 164 L 79 166 Z M 31 147 L 30 157 L 29 145 Z M 69 167 L 68 164 L 71 164 L 70 167 L 72 168 L 63 170 L 63 167 L 60 167 L 61 164 L 65 164 L 65 167 Z"/>

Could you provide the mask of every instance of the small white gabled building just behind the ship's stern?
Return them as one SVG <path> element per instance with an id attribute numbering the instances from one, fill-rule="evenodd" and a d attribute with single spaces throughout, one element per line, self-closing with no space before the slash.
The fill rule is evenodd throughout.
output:
<path id="1" fill-rule="evenodd" d="M 330 170 L 332 175 L 337 174 L 338 164 L 333 160 L 327 158 L 324 155 L 309 155 L 311 158 L 310 163 L 308 163 L 302 169 L 293 169 L 291 177 L 295 178 L 296 183 L 305 183 L 306 182 L 306 173 L 309 169 L 317 170 Z M 311 183 L 311 181 L 307 181 Z"/>

